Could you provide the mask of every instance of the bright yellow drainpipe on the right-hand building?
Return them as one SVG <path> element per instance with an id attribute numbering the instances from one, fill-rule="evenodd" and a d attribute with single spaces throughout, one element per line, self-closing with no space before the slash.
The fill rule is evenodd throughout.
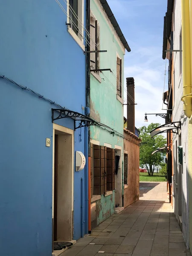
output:
<path id="1" fill-rule="evenodd" d="M 192 9 L 192 0 L 190 0 Z M 190 17 L 191 16 L 191 17 Z M 190 15 L 189 0 L 181 0 L 181 17 L 182 17 L 182 66 L 183 66 L 183 110 L 187 117 L 192 116 L 192 81 L 191 81 L 191 42 L 192 36 L 192 11 Z"/>

